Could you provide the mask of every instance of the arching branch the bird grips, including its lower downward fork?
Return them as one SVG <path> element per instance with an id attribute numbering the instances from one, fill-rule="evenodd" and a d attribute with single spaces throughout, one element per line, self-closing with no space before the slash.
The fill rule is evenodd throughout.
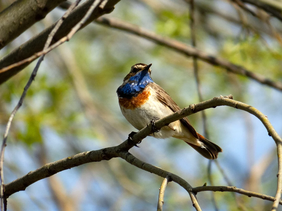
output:
<path id="1" fill-rule="evenodd" d="M 282 163 L 281 162 L 282 161 L 281 159 L 282 158 L 282 147 L 281 147 L 282 140 L 281 138 L 279 137 L 277 132 L 274 130 L 273 126 L 270 124 L 269 120 L 267 119 L 267 116 L 265 116 L 263 113 L 261 113 L 260 111 L 258 111 L 257 109 L 255 109 L 252 106 L 249 106 L 247 104 L 244 104 L 236 100 L 232 100 L 232 95 L 229 95 L 226 97 L 222 97 L 222 96 L 215 97 L 213 99 L 206 100 L 198 104 L 191 104 L 189 107 L 181 109 L 180 111 L 177 111 L 169 116 L 166 116 L 160 120 L 157 120 L 155 122 L 155 127 L 156 129 L 159 129 L 185 116 L 189 116 L 193 113 L 202 111 L 204 109 L 215 108 L 217 106 L 230 106 L 233 108 L 241 109 L 241 110 L 247 111 L 248 113 L 253 114 L 259 120 L 261 120 L 261 122 L 267 129 L 269 135 L 272 136 L 272 138 L 274 139 L 274 141 L 276 142 L 278 146 L 277 154 L 278 154 L 278 163 L 279 163 L 278 165 L 279 174 L 277 174 L 277 176 L 278 176 L 278 182 L 281 181 L 281 176 L 282 176 L 281 174 L 281 163 Z M 62 160 L 55 161 L 53 163 L 48 163 L 40 167 L 39 169 L 31 171 L 28 174 L 26 174 L 25 176 L 22 176 L 21 178 L 18 178 L 6 184 L 5 193 L 4 193 L 5 197 L 8 197 L 20 190 L 25 190 L 25 188 L 31 185 L 32 183 L 35 183 L 36 181 L 40 179 L 44 179 L 49 176 L 52 176 L 60 171 L 70 169 L 72 167 L 79 166 L 79 165 L 89 163 L 89 162 L 99 162 L 102 160 L 110 160 L 111 158 L 120 157 L 140 169 L 144 169 L 146 171 L 154 173 L 163 178 L 169 175 L 172 181 L 177 182 L 179 185 L 181 185 L 188 191 L 196 210 L 201 210 L 197 202 L 197 198 L 195 194 L 191 191 L 192 190 L 191 185 L 189 185 L 185 180 L 163 169 L 160 169 L 153 165 L 144 163 L 143 161 L 138 160 L 137 158 L 135 158 L 132 154 L 128 152 L 128 150 L 134 146 L 134 143 L 140 142 L 140 140 L 144 139 L 147 135 L 151 133 L 153 133 L 153 131 L 151 130 L 151 123 L 150 123 L 147 125 L 147 127 L 144 127 L 143 129 L 138 131 L 138 133 L 136 133 L 132 137 L 133 142 L 131 143 L 129 143 L 128 140 L 126 140 L 118 146 L 108 147 L 108 148 L 90 151 L 90 152 L 82 152 L 80 154 L 76 154 L 74 156 L 70 156 L 68 158 L 64 158 Z M 279 186 L 277 186 L 277 189 L 278 188 Z M 279 193 L 281 192 L 279 192 L 279 189 L 278 189 L 277 194 L 274 198 L 274 203 L 278 201 L 278 204 L 279 204 L 279 201 L 280 201 L 279 199 L 281 196 L 279 195 Z M 274 208 L 275 206 L 276 204 L 274 205 Z"/>

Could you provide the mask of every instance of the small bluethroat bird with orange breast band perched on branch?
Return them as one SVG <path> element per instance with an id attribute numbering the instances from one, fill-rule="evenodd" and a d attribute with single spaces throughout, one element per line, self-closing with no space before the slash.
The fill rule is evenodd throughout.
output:
<path id="1" fill-rule="evenodd" d="M 171 96 L 153 82 L 151 65 L 144 63 L 133 65 L 116 91 L 122 114 L 137 130 L 146 127 L 151 121 L 180 110 Z M 218 145 L 197 133 L 187 117 L 162 127 L 160 131 L 150 136 L 158 139 L 174 137 L 183 140 L 207 159 L 216 159 L 218 153 L 222 152 Z"/>

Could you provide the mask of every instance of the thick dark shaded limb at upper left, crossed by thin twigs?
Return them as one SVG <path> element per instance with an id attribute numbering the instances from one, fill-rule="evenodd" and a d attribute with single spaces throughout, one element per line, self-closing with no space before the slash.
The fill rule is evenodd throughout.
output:
<path id="1" fill-rule="evenodd" d="M 82 19 L 82 17 L 85 15 L 85 13 L 88 11 L 89 7 L 92 5 L 94 0 L 88 0 L 85 3 L 78 6 L 72 13 L 65 19 L 62 26 L 54 36 L 54 39 L 51 44 L 54 42 L 60 40 L 62 37 L 67 35 L 70 30 Z M 101 8 L 97 8 L 93 11 L 92 15 L 89 17 L 89 19 L 86 21 L 86 23 L 82 26 L 86 26 L 87 24 L 91 23 L 93 20 L 95 20 L 97 17 L 109 13 L 113 11 L 114 5 L 118 3 L 120 0 L 109 0 L 107 1 L 106 5 Z M 43 49 L 44 44 L 47 40 L 47 37 L 49 33 L 51 32 L 52 28 L 54 28 L 54 25 L 56 23 L 52 24 L 52 26 L 48 27 L 47 29 L 43 30 L 38 35 L 31 38 L 29 41 L 25 42 L 19 48 L 13 50 L 11 53 L 6 55 L 0 60 L 0 69 L 6 66 L 9 66 L 11 64 L 14 64 L 16 62 L 19 62 L 23 59 L 26 59 L 30 56 L 32 56 L 34 53 L 39 52 Z M 4 71 L 0 73 L 0 84 L 8 80 L 10 77 L 21 71 L 23 68 L 25 68 L 30 62 L 27 62 L 21 66 L 17 66 L 15 68 L 12 68 L 8 71 Z"/>

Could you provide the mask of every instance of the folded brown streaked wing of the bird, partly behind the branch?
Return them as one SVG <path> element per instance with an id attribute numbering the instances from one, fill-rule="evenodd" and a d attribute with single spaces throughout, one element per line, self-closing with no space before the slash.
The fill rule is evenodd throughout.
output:
<path id="1" fill-rule="evenodd" d="M 164 91 L 162 87 L 160 87 L 158 84 L 155 83 L 150 84 L 150 86 L 154 90 L 156 90 L 158 100 L 166 104 L 173 112 L 180 110 L 180 107 L 177 106 L 177 104 L 173 101 L 171 96 L 169 96 L 169 94 L 166 93 L 166 91 Z M 195 128 L 191 125 L 187 117 L 180 119 L 180 121 L 184 126 L 186 126 L 189 129 L 189 131 L 193 134 L 193 136 L 195 136 L 195 138 L 199 139 L 199 136 Z"/>

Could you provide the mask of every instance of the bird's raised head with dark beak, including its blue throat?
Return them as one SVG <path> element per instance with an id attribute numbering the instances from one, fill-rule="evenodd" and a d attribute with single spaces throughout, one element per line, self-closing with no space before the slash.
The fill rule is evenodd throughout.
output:
<path id="1" fill-rule="evenodd" d="M 122 85 L 116 91 L 118 96 L 131 98 L 142 91 L 149 83 L 153 83 L 151 65 L 143 63 L 133 65 L 130 72 L 125 76 Z"/>

